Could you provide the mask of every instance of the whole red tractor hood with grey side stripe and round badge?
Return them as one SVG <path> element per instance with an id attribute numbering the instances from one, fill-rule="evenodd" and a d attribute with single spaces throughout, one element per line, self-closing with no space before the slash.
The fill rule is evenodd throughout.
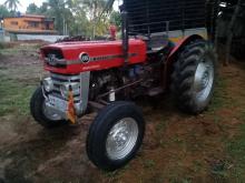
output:
<path id="1" fill-rule="evenodd" d="M 41 48 L 45 69 L 76 74 L 121 67 L 125 62 L 121 41 L 61 42 Z M 146 43 L 129 40 L 128 64 L 146 61 Z"/>

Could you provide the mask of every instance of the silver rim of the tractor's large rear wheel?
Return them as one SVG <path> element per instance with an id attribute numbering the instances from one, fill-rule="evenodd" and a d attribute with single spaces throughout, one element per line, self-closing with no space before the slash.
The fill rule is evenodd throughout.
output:
<path id="1" fill-rule="evenodd" d="M 210 58 L 204 60 L 197 65 L 194 88 L 196 92 L 196 100 L 205 102 L 213 89 L 214 83 L 214 63 Z"/>

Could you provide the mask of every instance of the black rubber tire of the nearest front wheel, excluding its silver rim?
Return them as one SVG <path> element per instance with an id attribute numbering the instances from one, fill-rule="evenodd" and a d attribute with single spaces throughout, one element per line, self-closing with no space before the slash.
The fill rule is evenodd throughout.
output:
<path id="1" fill-rule="evenodd" d="M 106 140 L 110 129 L 120 119 L 133 118 L 138 124 L 138 139 L 131 152 L 121 160 L 110 160 L 106 153 Z M 145 121 L 141 111 L 130 102 L 114 102 L 102 109 L 92 122 L 87 136 L 89 160 L 104 171 L 115 171 L 126 165 L 139 150 L 145 133 Z"/>

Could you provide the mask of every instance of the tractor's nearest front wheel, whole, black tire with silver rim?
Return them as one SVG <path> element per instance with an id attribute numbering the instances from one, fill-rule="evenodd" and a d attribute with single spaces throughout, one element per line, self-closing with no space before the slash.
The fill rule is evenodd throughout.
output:
<path id="1" fill-rule="evenodd" d="M 99 112 L 89 129 L 87 153 L 91 162 L 106 171 L 127 164 L 143 143 L 145 121 L 138 108 L 115 102 Z"/>

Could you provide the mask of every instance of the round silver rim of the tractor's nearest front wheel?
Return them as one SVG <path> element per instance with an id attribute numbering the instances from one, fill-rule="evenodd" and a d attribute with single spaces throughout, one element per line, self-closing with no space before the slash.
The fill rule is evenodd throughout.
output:
<path id="1" fill-rule="evenodd" d="M 138 133 L 138 124 L 133 118 L 118 121 L 107 136 L 106 151 L 108 157 L 110 160 L 126 157 L 136 145 Z"/>

